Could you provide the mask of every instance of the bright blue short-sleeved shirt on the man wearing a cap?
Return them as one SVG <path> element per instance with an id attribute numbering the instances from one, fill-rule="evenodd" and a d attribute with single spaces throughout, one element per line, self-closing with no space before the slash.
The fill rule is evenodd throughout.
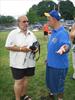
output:
<path id="1" fill-rule="evenodd" d="M 70 38 L 65 28 L 61 26 L 59 29 L 52 31 L 48 41 L 47 64 L 49 67 L 67 68 L 69 66 L 68 52 L 62 55 L 56 53 L 64 44 L 70 47 Z"/>

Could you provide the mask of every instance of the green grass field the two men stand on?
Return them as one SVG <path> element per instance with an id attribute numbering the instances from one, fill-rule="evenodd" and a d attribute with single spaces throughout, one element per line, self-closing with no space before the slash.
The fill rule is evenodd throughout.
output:
<path id="1" fill-rule="evenodd" d="M 5 49 L 5 40 L 9 32 L 0 32 L 0 100 L 13 100 L 13 83 L 9 67 L 8 51 Z M 48 90 L 45 84 L 45 59 L 47 54 L 47 41 L 43 38 L 43 32 L 35 32 L 40 44 L 41 55 L 40 60 L 36 62 L 35 76 L 30 78 L 28 95 L 32 96 L 32 100 L 40 100 L 41 96 L 47 96 Z M 70 77 L 73 73 L 71 52 L 69 54 L 70 67 L 65 82 L 64 100 L 75 100 L 75 81 Z"/>

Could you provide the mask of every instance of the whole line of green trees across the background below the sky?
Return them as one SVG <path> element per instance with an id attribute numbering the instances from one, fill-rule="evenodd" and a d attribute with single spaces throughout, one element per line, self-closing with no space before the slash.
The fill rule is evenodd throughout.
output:
<path id="1" fill-rule="evenodd" d="M 49 12 L 52 9 L 59 10 L 64 20 L 73 20 L 75 18 L 75 7 L 69 0 L 60 1 L 57 5 L 50 0 L 43 0 L 38 5 L 33 5 L 27 12 L 30 24 L 46 21 L 44 12 Z M 13 16 L 0 16 L 0 25 L 14 25 L 16 19 Z"/>

